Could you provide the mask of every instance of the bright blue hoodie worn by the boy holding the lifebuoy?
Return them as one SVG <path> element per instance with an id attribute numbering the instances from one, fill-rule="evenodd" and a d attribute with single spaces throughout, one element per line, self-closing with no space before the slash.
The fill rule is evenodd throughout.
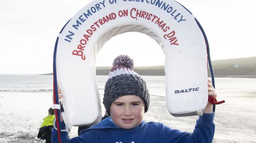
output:
<path id="1" fill-rule="evenodd" d="M 81 131 L 81 135 L 69 139 L 61 132 L 62 143 L 211 143 L 214 136 L 214 113 L 200 116 L 193 133 L 171 129 L 162 123 L 142 121 L 137 127 L 125 130 L 117 127 L 111 117 L 93 127 Z M 61 128 L 65 128 L 61 123 Z M 57 131 L 52 130 L 52 143 L 58 143 Z"/>

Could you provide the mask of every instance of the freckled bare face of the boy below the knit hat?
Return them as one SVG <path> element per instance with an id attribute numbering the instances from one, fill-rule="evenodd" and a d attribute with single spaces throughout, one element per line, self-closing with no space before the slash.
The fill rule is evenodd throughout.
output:
<path id="1" fill-rule="evenodd" d="M 139 96 L 118 97 L 110 106 L 113 122 L 120 128 L 131 129 L 138 126 L 144 117 L 145 104 Z"/>

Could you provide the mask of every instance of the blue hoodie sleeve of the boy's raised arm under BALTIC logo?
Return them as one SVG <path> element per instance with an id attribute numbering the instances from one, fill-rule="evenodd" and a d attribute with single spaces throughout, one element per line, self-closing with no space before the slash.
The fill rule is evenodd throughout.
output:
<path id="1" fill-rule="evenodd" d="M 173 130 L 162 124 L 163 143 L 212 143 L 215 131 L 214 113 L 200 116 L 193 133 Z"/>

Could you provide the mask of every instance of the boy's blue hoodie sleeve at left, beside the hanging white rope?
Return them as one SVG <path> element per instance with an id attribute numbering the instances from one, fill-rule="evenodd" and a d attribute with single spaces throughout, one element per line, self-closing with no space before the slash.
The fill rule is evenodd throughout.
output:
<path id="1" fill-rule="evenodd" d="M 64 122 L 61 122 L 61 130 L 65 129 Z M 68 132 L 61 132 L 61 143 L 90 143 L 91 131 L 88 131 L 80 136 L 69 139 Z M 59 143 L 57 130 L 52 128 L 52 143 Z"/>

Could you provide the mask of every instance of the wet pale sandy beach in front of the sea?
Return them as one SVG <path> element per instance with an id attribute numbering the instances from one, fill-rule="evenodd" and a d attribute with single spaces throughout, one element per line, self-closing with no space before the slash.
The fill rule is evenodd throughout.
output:
<path id="1" fill-rule="evenodd" d="M 221 82 L 217 84 L 218 99 L 226 103 L 216 106 L 214 143 L 256 143 L 256 79 L 250 81 L 254 85 L 234 84 L 228 89 L 222 89 Z M 173 117 L 167 111 L 165 97 L 151 95 L 150 100 L 144 120 L 193 131 L 197 116 Z M 38 143 L 39 127 L 51 105 L 51 92 L 1 92 L 0 143 Z M 72 127 L 71 138 L 77 136 L 77 129 Z"/>

